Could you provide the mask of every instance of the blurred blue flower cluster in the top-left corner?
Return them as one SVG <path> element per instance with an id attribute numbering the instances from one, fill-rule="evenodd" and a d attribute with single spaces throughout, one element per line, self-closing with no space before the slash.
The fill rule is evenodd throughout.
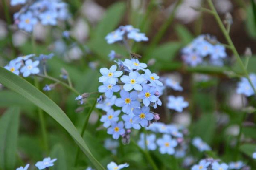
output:
<path id="1" fill-rule="evenodd" d="M 24 4 L 24 6 L 14 14 L 15 24 L 18 28 L 31 32 L 35 24 L 57 25 L 58 20 L 66 20 L 69 17 L 67 3 L 61 0 L 36 0 L 31 3 L 27 0 L 11 0 L 11 5 Z"/>

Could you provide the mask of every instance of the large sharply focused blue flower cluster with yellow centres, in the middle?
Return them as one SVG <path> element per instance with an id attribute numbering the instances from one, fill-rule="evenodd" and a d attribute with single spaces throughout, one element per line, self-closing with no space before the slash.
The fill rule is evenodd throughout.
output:
<path id="1" fill-rule="evenodd" d="M 100 119 L 103 126 L 108 128 L 108 134 L 114 139 L 125 134 L 125 129 L 140 129 L 149 125 L 154 119 L 150 107 L 157 108 L 161 105 L 157 88 L 163 86 L 159 76 L 146 69 L 145 63 L 138 59 L 125 59 L 119 61 L 119 70 L 116 65 L 111 68 L 101 68 L 99 92 L 105 93 L 105 100 L 96 105 L 106 111 L 106 115 Z M 114 93 L 120 95 L 118 98 Z M 112 106 L 116 105 L 121 110 L 114 111 Z M 120 115 L 120 113 L 125 113 Z M 119 121 L 119 116 L 123 121 Z"/>

